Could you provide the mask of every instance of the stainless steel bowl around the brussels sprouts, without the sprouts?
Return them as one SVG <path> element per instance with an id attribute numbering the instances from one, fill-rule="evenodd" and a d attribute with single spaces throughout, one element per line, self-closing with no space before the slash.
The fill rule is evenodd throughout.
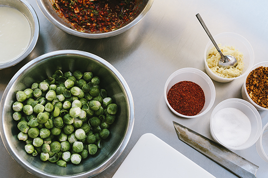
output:
<path id="1" fill-rule="evenodd" d="M 111 125 L 111 137 L 103 140 L 102 148 L 96 156 L 83 160 L 80 164 L 67 167 L 55 163 L 42 162 L 24 151 L 23 141 L 17 139 L 19 130 L 12 118 L 12 104 L 15 92 L 24 90 L 35 81 L 42 81 L 60 69 L 63 72 L 80 70 L 92 71 L 100 77 L 101 87 L 118 105 L 116 120 Z M 103 85 L 103 86 L 102 86 Z M 0 103 L 0 133 L 4 146 L 12 158 L 28 172 L 42 178 L 89 178 L 102 172 L 120 156 L 126 147 L 134 126 L 134 102 L 131 91 L 120 73 L 102 58 L 83 51 L 59 50 L 44 54 L 24 65 L 8 83 Z"/>

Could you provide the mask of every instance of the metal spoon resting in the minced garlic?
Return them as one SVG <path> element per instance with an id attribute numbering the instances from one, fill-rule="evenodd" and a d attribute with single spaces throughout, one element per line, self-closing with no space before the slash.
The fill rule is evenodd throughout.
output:
<path id="1" fill-rule="evenodd" d="M 215 48 L 217 49 L 217 51 L 221 55 L 221 58 L 220 58 L 218 66 L 219 67 L 225 67 L 225 68 L 235 67 L 237 65 L 237 60 L 235 59 L 235 57 L 231 56 L 231 55 L 223 55 L 222 54 L 222 51 L 219 49 L 217 43 L 213 39 L 209 29 L 207 28 L 207 26 L 206 26 L 205 22 L 203 21 L 203 19 L 201 18 L 201 16 L 199 14 L 196 14 L 195 16 L 198 18 L 198 20 L 201 23 L 202 27 L 204 28 L 204 30 L 209 35 L 209 37 L 211 39 L 211 42 L 213 43 L 213 45 L 215 46 Z"/>

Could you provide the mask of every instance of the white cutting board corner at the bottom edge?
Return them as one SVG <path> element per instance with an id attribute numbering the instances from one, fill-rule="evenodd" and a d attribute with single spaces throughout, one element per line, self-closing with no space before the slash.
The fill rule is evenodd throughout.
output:
<path id="1" fill-rule="evenodd" d="M 140 137 L 113 178 L 215 178 L 152 133 Z"/>

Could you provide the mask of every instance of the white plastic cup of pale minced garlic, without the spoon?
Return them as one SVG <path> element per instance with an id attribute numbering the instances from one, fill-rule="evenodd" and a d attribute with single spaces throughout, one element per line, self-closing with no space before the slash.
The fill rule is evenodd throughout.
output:
<path id="1" fill-rule="evenodd" d="M 230 82 L 246 75 L 254 62 L 254 52 L 249 41 L 243 36 L 224 32 L 214 36 L 216 43 L 224 55 L 233 55 L 238 64 L 234 68 L 219 67 L 220 55 L 211 41 L 205 49 L 205 69 L 212 80 Z"/>

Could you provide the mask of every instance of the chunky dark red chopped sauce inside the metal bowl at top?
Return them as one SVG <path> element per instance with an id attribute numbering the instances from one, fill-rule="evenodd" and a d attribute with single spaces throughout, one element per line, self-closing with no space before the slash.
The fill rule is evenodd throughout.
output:
<path id="1" fill-rule="evenodd" d="M 60 10 L 80 32 L 111 32 L 136 14 L 135 0 L 55 0 Z"/>

